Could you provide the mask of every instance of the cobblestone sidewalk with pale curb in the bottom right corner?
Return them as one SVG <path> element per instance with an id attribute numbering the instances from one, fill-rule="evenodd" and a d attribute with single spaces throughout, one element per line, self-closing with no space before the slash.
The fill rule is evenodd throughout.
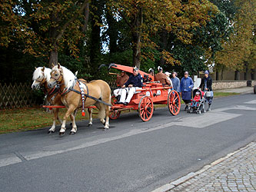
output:
<path id="1" fill-rule="evenodd" d="M 256 142 L 154 190 L 157 191 L 256 192 Z"/>

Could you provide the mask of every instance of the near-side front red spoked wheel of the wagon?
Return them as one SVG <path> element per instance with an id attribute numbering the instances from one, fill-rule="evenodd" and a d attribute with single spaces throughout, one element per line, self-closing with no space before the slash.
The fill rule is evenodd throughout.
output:
<path id="1" fill-rule="evenodd" d="M 152 118 L 154 104 L 151 98 L 144 96 L 138 104 L 138 114 L 142 121 L 149 121 Z"/>

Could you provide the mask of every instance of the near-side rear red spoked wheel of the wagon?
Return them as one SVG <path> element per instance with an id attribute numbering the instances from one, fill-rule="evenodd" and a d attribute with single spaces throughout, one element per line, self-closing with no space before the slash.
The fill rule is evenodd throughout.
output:
<path id="1" fill-rule="evenodd" d="M 177 115 L 181 111 L 181 98 L 177 91 L 172 90 L 168 94 L 167 104 L 172 115 Z"/>

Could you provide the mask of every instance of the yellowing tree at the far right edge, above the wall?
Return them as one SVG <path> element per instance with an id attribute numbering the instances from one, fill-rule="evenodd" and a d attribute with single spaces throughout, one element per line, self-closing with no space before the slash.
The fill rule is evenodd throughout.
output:
<path id="1" fill-rule="evenodd" d="M 255 60 L 255 24 L 256 2 L 238 0 L 235 4 L 238 12 L 234 15 L 231 25 L 234 32 L 227 41 L 222 42 L 223 49 L 218 51 L 215 62 L 227 68 L 235 70 L 235 79 L 238 79 L 238 71 L 245 72 L 256 67 Z"/>

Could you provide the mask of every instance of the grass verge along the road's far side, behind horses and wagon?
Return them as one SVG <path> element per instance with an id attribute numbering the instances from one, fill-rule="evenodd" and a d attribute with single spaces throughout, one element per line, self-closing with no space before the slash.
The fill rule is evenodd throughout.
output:
<path id="1" fill-rule="evenodd" d="M 214 98 L 228 97 L 235 94 L 238 93 L 214 92 Z M 183 104 L 183 101 L 181 101 L 181 104 Z M 165 105 L 155 105 L 155 108 L 162 107 L 165 107 Z M 128 111 L 122 111 L 122 113 L 124 112 Z M 63 118 L 64 114 L 65 108 L 60 109 L 60 118 Z M 95 117 L 95 115 L 93 115 L 93 117 Z M 78 114 L 75 119 L 76 121 L 87 120 L 88 114 L 86 113 L 85 117 L 82 117 L 81 110 L 78 110 Z M 0 111 L 0 134 L 27 131 L 51 125 L 52 114 L 45 112 L 45 109 L 43 108 L 22 108 Z"/>

